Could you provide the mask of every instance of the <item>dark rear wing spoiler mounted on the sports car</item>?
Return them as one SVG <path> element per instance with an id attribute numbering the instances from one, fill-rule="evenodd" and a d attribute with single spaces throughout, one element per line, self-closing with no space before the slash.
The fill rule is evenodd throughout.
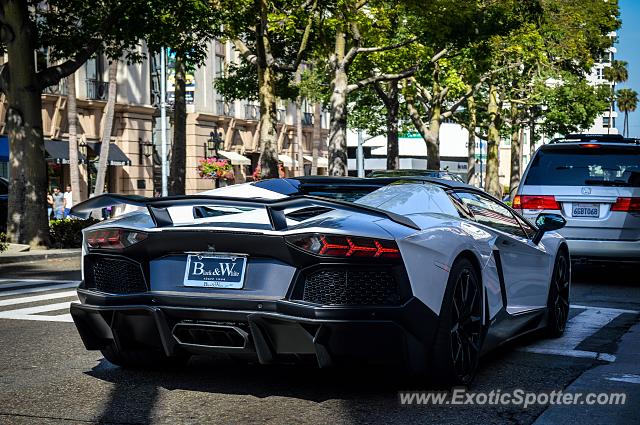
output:
<path id="1" fill-rule="evenodd" d="M 325 207 L 360 214 L 369 214 L 372 216 L 387 218 L 394 223 L 409 227 L 411 229 L 420 230 L 420 227 L 411 219 L 390 211 L 381 210 L 379 208 L 370 207 L 368 205 L 355 204 L 351 202 L 308 195 L 291 196 L 283 199 L 243 199 L 230 198 L 226 196 L 207 195 L 183 195 L 168 196 L 164 198 L 145 198 L 143 196 L 136 195 L 118 195 L 115 193 L 106 193 L 104 195 L 98 195 L 96 197 L 89 198 L 86 201 L 75 205 L 73 208 L 71 208 L 71 214 L 80 218 L 88 218 L 91 214 L 91 211 L 95 209 L 121 204 L 146 207 L 156 227 L 169 227 L 173 225 L 173 220 L 171 219 L 171 215 L 168 211 L 168 208 L 170 207 L 206 206 L 215 204 L 218 206 L 265 208 L 273 230 L 287 229 L 287 219 L 284 214 L 285 209 L 309 207 Z"/>

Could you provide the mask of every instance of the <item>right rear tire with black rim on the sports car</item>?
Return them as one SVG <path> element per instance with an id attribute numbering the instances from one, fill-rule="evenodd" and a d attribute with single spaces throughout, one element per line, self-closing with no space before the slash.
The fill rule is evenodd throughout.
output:
<path id="1" fill-rule="evenodd" d="M 429 372 L 438 386 L 471 384 L 475 378 L 486 327 L 482 323 L 482 284 L 473 263 L 453 263 L 440 309 Z"/>

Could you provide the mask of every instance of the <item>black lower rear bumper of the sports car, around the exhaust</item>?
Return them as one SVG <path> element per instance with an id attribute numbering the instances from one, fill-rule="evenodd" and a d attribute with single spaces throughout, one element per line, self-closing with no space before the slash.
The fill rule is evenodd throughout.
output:
<path id="1" fill-rule="evenodd" d="M 71 315 L 89 350 L 115 343 L 121 349 L 162 349 L 169 356 L 239 354 L 263 364 L 313 357 L 320 367 L 356 361 L 421 370 L 437 325 L 435 313 L 415 298 L 399 307 L 345 308 L 230 299 L 194 306 L 194 300 L 166 296 L 157 305 L 160 298 L 152 293 L 79 295 L 84 302 L 72 304 Z M 235 342 L 198 339 L 200 331 L 212 329 Z"/>

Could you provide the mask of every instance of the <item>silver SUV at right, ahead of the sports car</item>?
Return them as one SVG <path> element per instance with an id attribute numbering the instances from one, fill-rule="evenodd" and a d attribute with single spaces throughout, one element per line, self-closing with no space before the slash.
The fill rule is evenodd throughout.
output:
<path id="1" fill-rule="evenodd" d="M 640 261 L 640 140 L 552 140 L 533 156 L 513 208 L 532 222 L 543 210 L 562 214 L 574 260 Z"/>

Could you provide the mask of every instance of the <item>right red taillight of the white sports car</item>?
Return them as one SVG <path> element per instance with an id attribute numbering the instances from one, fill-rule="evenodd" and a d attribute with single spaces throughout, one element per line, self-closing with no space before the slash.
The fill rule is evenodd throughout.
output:
<path id="1" fill-rule="evenodd" d="M 354 236 L 305 234 L 287 237 L 294 246 L 324 257 L 400 258 L 394 241 Z"/>

